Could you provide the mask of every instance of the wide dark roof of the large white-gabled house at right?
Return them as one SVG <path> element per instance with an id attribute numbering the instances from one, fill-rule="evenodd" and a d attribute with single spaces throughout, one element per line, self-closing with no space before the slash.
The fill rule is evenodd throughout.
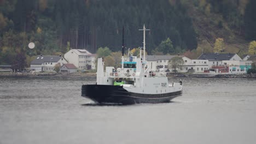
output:
<path id="1" fill-rule="evenodd" d="M 235 53 L 203 53 L 197 59 L 228 61 L 235 55 Z"/>

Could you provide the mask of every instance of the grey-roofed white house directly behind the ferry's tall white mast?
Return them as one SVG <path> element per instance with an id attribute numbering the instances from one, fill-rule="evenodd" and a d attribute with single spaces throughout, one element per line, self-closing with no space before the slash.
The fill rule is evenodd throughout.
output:
<path id="1" fill-rule="evenodd" d="M 168 69 L 168 61 L 176 56 L 168 55 L 147 55 L 146 68 L 150 71 L 159 71 L 160 69 Z"/>

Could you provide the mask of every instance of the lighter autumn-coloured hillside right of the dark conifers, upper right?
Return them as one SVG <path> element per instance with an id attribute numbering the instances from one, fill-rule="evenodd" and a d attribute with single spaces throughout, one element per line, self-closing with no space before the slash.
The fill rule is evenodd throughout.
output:
<path id="1" fill-rule="evenodd" d="M 248 53 L 249 41 L 256 40 L 256 1 L 183 1 L 197 33 L 197 56 L 213 52 L 216 40 L 223 39 L 223 51 Z M 196 57 L 196 56 L 195 56 Z"/>

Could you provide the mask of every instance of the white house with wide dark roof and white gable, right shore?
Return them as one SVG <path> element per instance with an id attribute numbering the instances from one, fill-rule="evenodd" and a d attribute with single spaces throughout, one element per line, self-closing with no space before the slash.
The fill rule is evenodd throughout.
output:
<path id="1" fill-rule="evenodd" d="M 207 59 L 209 61 L 209 67 L 216 67 L 223 65 L 223 61 L 242 61 L 236 53 L 202 53 L 197 59 Z"/>

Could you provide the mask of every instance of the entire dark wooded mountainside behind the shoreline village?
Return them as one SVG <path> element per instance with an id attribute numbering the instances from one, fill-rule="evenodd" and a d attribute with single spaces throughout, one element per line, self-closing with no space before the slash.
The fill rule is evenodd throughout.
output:
<path id="1" fill-rule="evenodd" d="M 162 52 L 167 41 L 166 53 L 196 56 L 213 50 L 217 38 L 226 51 L 245 53 L 256 40 L 255 7 L 253 0 L 0 0 L 0 64 L 29 64 L 68 49 L 120 51 L 123 26 L 125 46 L 133 49 L 142 46 L 143 24 L 148 54 Z"/>

